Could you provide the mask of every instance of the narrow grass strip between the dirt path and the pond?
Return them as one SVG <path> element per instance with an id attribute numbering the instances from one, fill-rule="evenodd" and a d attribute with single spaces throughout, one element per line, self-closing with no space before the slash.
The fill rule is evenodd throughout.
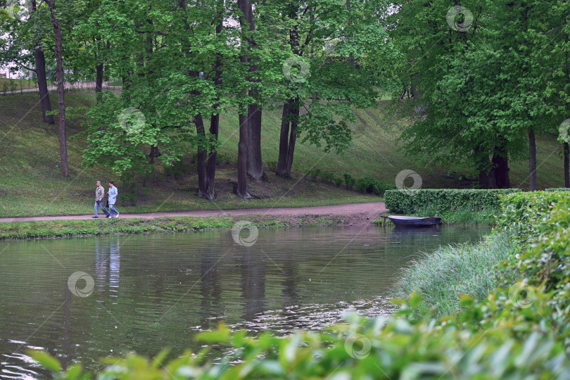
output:
<path id="1" fill-rule="evenodd" d="M 0 223 L 1 240 L 49 239 L 124 234 L 173 233 L 232 228 L 239 220 L 263 227 L 346 224 L 342 215 L 239 215 L 236 217 L 158 217 L 155 219 L 45 220 Z"/>

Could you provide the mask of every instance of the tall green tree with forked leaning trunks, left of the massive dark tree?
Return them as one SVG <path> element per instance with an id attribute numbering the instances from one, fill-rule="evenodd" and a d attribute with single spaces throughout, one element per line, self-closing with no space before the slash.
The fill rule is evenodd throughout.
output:
<path id="1" fill-rule="evenodd" d="M 289 56 L 276 174 L 291 176 L 296 138 L 343 151 L 353 107 L 372 106 L 387 80 L 378 60 L 393 61 L 386 32 L 387 1 L 279 3 Z M 379 58 L 381 57 L 381 58 Z"/>

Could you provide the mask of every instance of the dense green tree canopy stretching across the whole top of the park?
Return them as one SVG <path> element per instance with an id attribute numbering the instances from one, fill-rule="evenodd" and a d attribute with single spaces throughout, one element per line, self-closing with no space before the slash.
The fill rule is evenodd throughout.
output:
<path id="1" fill-rule="evenodd" d="M 243 198 L 246 173 L 264 178 L 262 110 L 282 109 L 277 175 L 291 175 L 297 137 L 342 152 L 353 110 L 391 93 L 393 110 L 412 118 L 402 134 L 410 155 L 460 163 L 483 187 L 511 186 L 509 161 L 528 158 L 531 189 L 536 134 L 558 134 L 569 118 L 566 1 L 4 0 L 1 9 L 0 62 L 37 72 L 44 121 L 53 122 L 46 67 L 60 82 L 95 78 L 84 165 L 132 176 L 197 149 L 198 192 L 210 200 L 220 113 L 240 115 Z M 120 93 L 102 92 L 110 76 Z M 63 94 L 59 103 L 64 143 Z"/>

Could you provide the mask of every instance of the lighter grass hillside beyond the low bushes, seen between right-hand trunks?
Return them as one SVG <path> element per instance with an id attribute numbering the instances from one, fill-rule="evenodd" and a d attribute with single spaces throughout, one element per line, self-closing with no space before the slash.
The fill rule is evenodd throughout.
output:
<path id="1" fill-rule="evenodd" d="M 338 177 L 348 173 L 353 177 L 372 177 L 393 184 L 401 170 L 418 172 L 425 188 L 471 188 L 478 179 L 477 173 L 461 167 L 421 165 L 414 152 L 401 149 L 396 143 L 405 120 L 384 122 L 383 108 L 388 101 L 381 101 L 379 108 L 355 110 L 357 123 L 351 125 L 353 141 L 341 154 L 324 153 L 315 146 L 300 144 L 297 139 L 293 170 L 305 172 L 310 167 L 334 172 Z M 237 115 L 223 114 L 220 117 L 220 139 L 224 141 L 220 152 L 234 159 L 237 156 Z M 279 154 L 279 127 L 281 110 L 263 114 L 262 156 L 265 162 L 277 161 Z M 539 189 L 564 186 L 562 144 L 552 136 L 537 137 L 537 160 Z M 509 163 L 513 187 L 528 189 L 528 161 Z"/>

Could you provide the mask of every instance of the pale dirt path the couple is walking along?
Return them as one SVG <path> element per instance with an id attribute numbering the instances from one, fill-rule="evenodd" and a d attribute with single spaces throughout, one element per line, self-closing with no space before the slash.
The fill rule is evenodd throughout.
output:
<path id="1" fill-rule="evenodd" d="M 120 210 L 119 210 L 120 211 Z M 147 214 L 120 214 L 120 219 L 142 217 L 153 219 L 155 217 L 208 217 L 208 216 L 236 216 L 236 215 L 345 215 L 350 223 L 367 224 L 376 219 L 379 213 L 386 212 L 384 202 L 371 203 L 348 203 L 344 205 L 326 205 L 299 208 L 245 208 L 239 210 L 195 210 L 176 211 L 170 213 L 147 213 Z M 44 217 L 3 217 L 0 222 L 33 222 L 37 220 L 87 220 L 93 215 L 61 215 Z M 99 219 L 104 218 L 99 213 Z"/>

